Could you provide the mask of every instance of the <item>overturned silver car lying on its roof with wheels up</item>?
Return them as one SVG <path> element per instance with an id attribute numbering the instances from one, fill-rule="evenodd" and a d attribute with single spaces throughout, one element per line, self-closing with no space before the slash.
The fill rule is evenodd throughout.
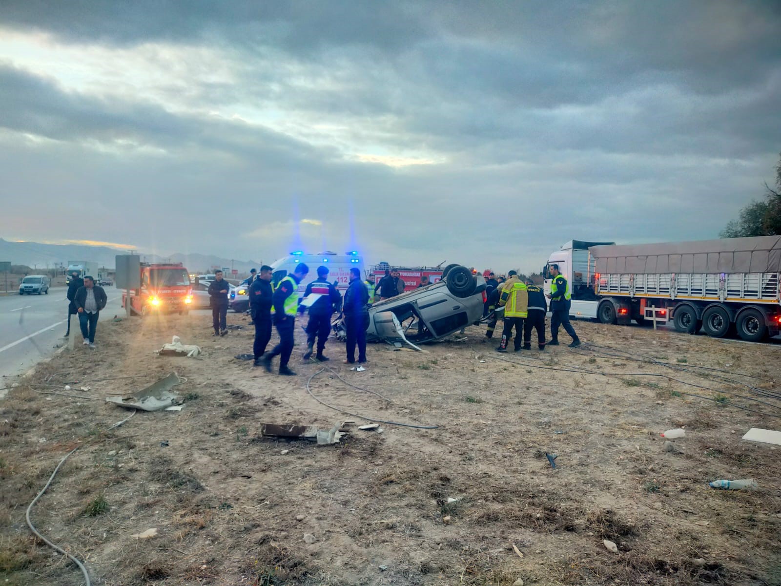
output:
<path id="1" fill-rule="evenodd" d="M 480 322 L 485 288 L 482 276 L 473 275 L 465 266 L 449 265 L 437 283 L 370 306 L 367 339 L 415 347 L 447 338 Z M 337 337 L 344 338 L 342 320 L 337 320 L 333 327 Z"/>

